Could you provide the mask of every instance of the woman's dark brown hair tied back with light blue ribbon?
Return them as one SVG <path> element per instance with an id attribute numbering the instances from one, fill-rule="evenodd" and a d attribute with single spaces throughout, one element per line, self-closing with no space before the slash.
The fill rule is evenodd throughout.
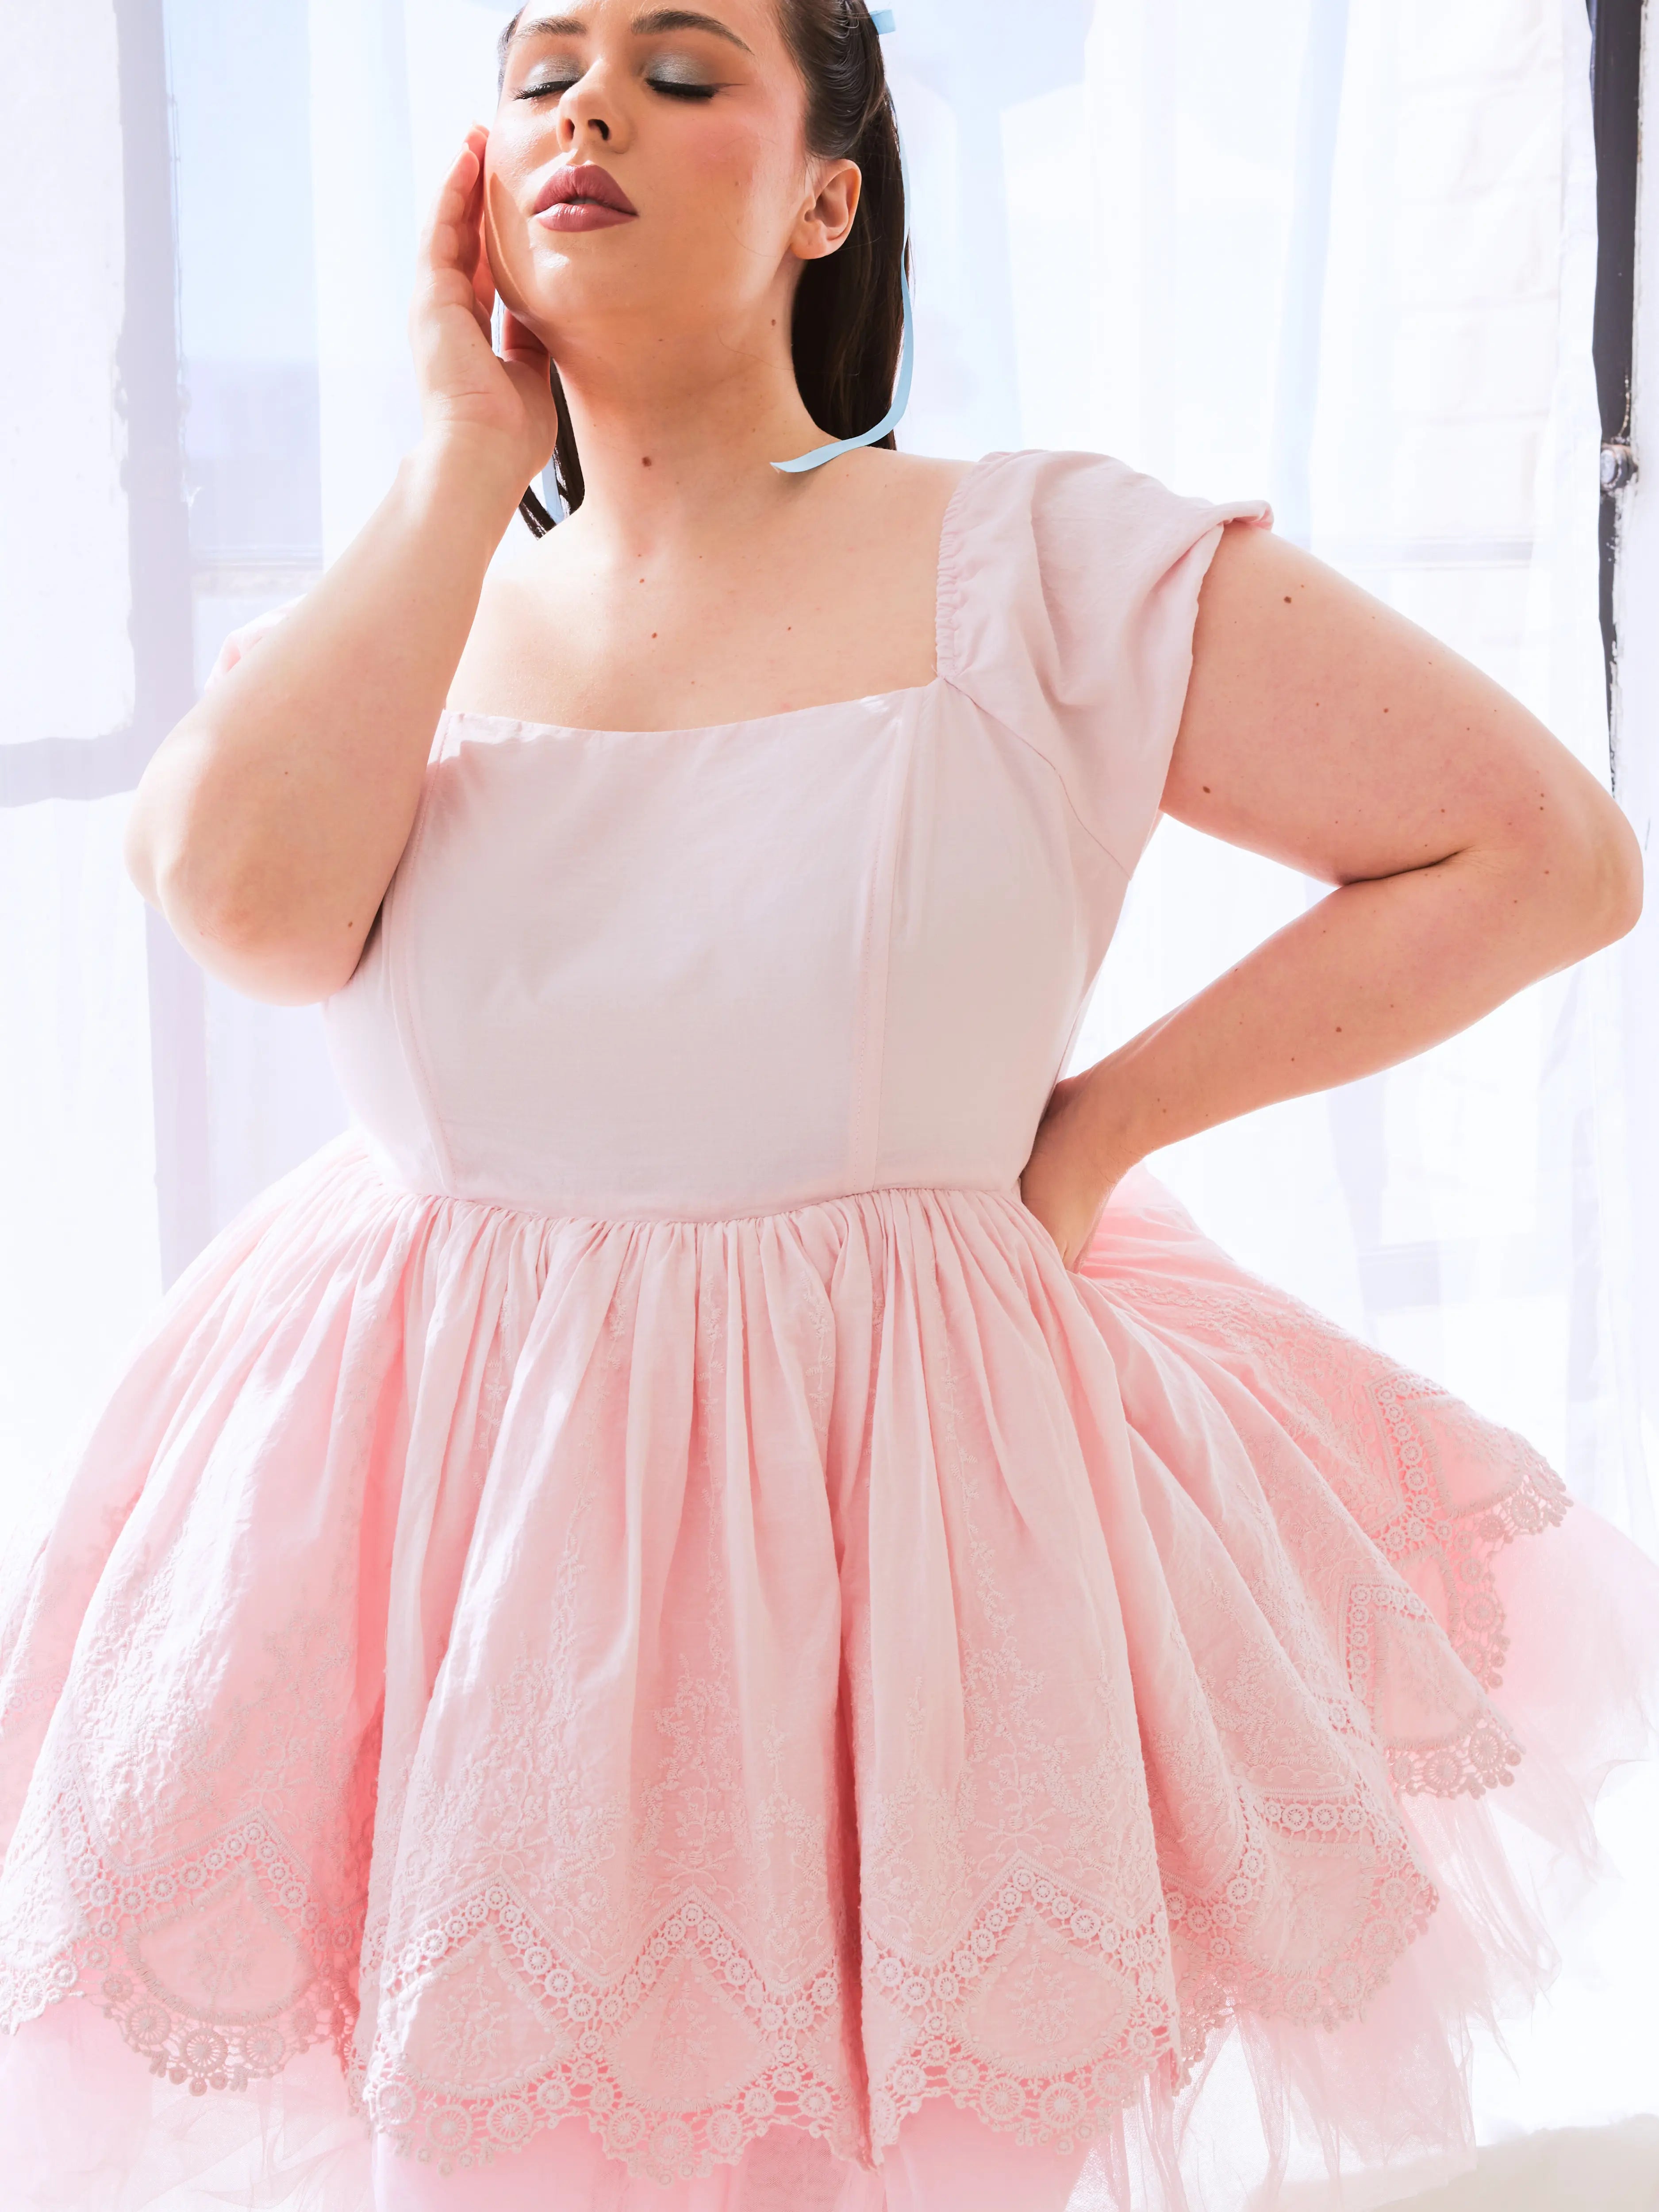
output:
<path id="1" fill-rule="evenodd" d="M 865 0 L 776 0 L 783 38 L 807 88 L 807 153 L 825 161 L 856 161 L 863 173 L 858 215 L 841 252 L 801 265 L 794 294 L 794 380 L 807 414 L 830 438 L 858 438 L 894 400 L 905 336 L 905 170 L 898 159 L 898 119 L 887 91 L 880 35 Z M 522 15 L 522 9 L 520 9 Z M 500 35 L 500 69 L 518 15 Z M 560 495 L 582 504 L 582 456 L 553 369 L 560 400 L 555 453 Z M 894 434 L 883 440 L 894 447 Z M 522 513 L 544 535 L 553 518 L 526 491 Z"/>

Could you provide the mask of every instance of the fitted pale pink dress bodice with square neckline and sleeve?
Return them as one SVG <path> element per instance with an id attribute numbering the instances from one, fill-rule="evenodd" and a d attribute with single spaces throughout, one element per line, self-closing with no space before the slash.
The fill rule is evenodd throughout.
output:
<path id="1" fill-rule="evenodd" d="M 1013 1192 L 1157 810 L 1225 513 L 1093 456 L 998 456 L 945 522 L 929 686 L 664 732 L 447 712 L 327 1009 L 398 1181 L 606 1219 Z"/>

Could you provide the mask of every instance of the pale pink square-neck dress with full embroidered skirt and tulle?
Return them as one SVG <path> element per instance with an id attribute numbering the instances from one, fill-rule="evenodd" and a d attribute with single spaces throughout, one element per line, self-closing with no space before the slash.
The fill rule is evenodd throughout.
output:
<path id="1" fill-rule="evenodd" d="M 1018 1188 L 1237 515 L 993 456 L 918 690 L 442 717 L 358 1126 L 177 1285 L 4 1617 L 9 2203 L 1467 2161 L 1467 2022 L 1551 1964 L 1491 1803 L 1590 1860 L 1659 1575 L 1148 1175 L 1079 1272 Z"/>

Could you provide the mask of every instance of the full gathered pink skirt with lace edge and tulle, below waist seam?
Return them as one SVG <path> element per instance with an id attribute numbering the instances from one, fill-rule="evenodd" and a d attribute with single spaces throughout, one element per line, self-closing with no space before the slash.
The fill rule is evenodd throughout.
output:
<path id="1" fill-rule="evenodd" d="M 1354 2212 L 1471 2159 L 1659 1571 L 1146 1175 L 1068 1274 L 343 1139 L 0 1632 L 13 2203 Z"/>

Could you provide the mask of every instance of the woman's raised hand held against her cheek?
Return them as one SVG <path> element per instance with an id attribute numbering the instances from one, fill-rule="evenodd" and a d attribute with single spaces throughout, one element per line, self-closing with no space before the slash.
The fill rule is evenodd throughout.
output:
<path id="1" fill-rule="evenodd" d="M 473 124 L 442 181 L 416 254 L 409 347 L 420 416 L 431 438 L 482 438 L 502 451 L 520 484 L 553 458 L 560 434 L 551 361 L 518 316 L 507 316 L 504 354 L 491 343 L 495 279 L 484 248 L 484 153 Z"/>

